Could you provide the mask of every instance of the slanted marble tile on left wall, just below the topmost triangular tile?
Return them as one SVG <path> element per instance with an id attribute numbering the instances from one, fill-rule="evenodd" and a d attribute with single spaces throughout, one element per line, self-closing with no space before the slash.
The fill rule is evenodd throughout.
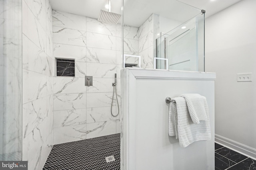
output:
<path id="1" fill-rule="evenodd" d="M 22 32 L 43 51 L 46 50 L 46 32 L 26 3 L 22 5 Z"/>

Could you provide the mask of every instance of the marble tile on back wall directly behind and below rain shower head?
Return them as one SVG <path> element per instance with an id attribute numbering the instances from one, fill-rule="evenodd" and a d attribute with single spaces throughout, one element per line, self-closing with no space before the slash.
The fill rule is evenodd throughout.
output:
<path id="1" fill-rule="evenodd" d="M 116 36 L 116 24 L 100 22 L 94 18 L 86 17 L 86 31 Z"/>

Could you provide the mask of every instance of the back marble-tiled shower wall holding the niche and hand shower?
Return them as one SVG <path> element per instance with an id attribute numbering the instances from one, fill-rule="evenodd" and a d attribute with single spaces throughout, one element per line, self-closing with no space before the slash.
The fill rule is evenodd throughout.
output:
<path id="1" fill-rule="evenodd" d="M 138 28 L 125 27 L 125 53 L 138 55 Z M 121 25 L 53 11 L 53 55 L 76 60 L 75 77 L 54 77 L 54 144 L 119 133 L 111 115 L 114 74 L 120 104 Z M 84 86 L 84 76 L 93 86 Z M 112 112 L 118 108 L 114 96 Z M 119 123 L 119 124 L 118 124 Z"/>

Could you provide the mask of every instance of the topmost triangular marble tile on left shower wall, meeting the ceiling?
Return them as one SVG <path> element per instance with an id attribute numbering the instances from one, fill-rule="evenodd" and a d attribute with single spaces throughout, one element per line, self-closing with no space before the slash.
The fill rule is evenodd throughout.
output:
<path id="1" fill-rule="evenodd" d="M 28 8 L 34 14 L 36 20 L 40 23 L 43 29 L 46 31 L 46 0 L 24 0 L 28 5 Z M 24 4 L 22 4 L 23 6 Z"/>

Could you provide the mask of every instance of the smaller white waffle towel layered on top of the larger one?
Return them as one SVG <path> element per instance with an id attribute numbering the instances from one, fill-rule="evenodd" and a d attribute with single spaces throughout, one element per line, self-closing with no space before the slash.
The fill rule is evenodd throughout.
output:
<path id="1" fill-rule="evenodd" d="M 200 94 L 182 94 L 180 97 L 185 98 L 188 111 L 192 121 L 196 124 L 201 120 L 207 120 L 208 105 L 206 98 Z"/>

